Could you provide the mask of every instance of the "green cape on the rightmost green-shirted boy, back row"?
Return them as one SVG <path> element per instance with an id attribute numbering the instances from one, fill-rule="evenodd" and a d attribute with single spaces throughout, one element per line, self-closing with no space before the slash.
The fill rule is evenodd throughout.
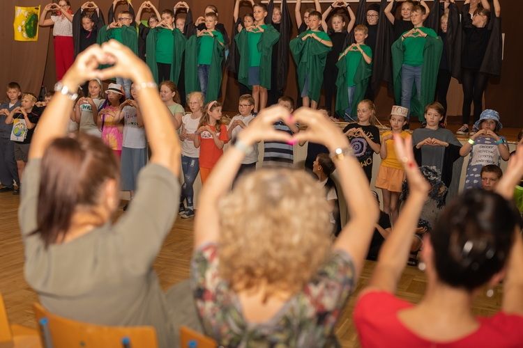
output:
<path id="1" fill-rule="evenodd" d="M 402 38 L 392 45 L 394 99 L 397 105 L 402 100 L 402 65 L 403 45 Z M 420 122 L 425 120 L 425 106 L 434 101 L 436 82 L 439 71 L 439 60 L 443 51 L 443 42 L 439 36 L 433 38 L 427 35 L 425 49 L 423 49 L 423 68 L 421 70 L 421 99 L 418 100 L 416 84 L 412 88 L 411 116 L 417 116 Z"/>

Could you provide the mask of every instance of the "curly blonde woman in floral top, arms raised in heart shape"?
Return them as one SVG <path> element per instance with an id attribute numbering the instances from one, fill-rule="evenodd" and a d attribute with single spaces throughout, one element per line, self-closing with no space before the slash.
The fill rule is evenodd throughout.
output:
<path id="1" fill-rule="evenodd" d="M 274 129 L 278 120 L 308 130 L 291 139 Z M 338 154 L 342 189 L 360 200 L 346 196 L 351 221 L 333 246 L 324 188 L 305 172 L 261 169 L 227 194 L 247 150 L 264 139 L 325 143 Z M 220 345 L 323 347 L 332 335 L 377 220 L 367 179 L 349 149 L 340 129 L 318 111 L 290 116 L 273 106 L 216 164 L 199 200 L 191 277 L 204 329 Z"/>

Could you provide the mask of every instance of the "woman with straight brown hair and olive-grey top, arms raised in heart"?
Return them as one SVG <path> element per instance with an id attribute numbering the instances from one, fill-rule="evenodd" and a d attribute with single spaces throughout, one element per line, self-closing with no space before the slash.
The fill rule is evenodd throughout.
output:
<path id="1" fill-rule="evenodd" d="M 98 71 L 99 63 L 112 63 Z M 126 71 L 126 66 L 135 69 Z M 112 74 L 112 75 L 111 75 Z M 88 79 L 135 80 L 153 152 L 128 212 L 112 223 L 119 205 L 119 164 L 96 137 L 63 137 L 71 90 Z M 151 73 L 117 42 L 79 54 L 56 85 L 42 116 L 24 176 L 20 228 L 25 274 L 43 306 L 53 313 L 107 325 L 151 325 L 160 347 L 175 340 L 165 295 L 152 269 L 179 199 L 179 143 Z M 73 100 L 72 100 L 73 99 Z M 169 204 L 170 203 L 170 204 Z"/>

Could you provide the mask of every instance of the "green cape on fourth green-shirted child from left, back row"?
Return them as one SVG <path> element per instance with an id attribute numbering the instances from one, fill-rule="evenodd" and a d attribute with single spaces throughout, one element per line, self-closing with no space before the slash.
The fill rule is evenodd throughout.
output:
<path id="1" fill-rule="evenodd" d="M 236 45 L 238 45 L 238 52 L 240 54 L 240 65 L 238 67 L 238 81 L 248 86 L 249 85 L 249 45 L 248 34 L 245 29 L 240 31 L 234 38 Z M 261 38 L 258 41 L 258 50 L 261 52 L 261 61 L 259 62 L 259 85 L 263 88 L 271 89 L 271 69 L 273 46 L 280 39 L 280 33 L 274 29 L 271 24 L 266 24 L 266 28 L 261 33 Z"/>

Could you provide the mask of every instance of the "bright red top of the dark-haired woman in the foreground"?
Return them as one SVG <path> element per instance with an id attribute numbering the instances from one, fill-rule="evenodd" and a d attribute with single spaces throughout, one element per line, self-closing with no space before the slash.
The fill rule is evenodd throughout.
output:
<path id="1" fill-rule="evenodd" d="M 354 324 L 361 347 L 523 347 L 523 317 L 498 313 L 478 317 L 479 329 L 459 340 L 433 342 L 410 331 L 397 313 L 414 305 L 389 292 L 367 292 L 354 308 Z"/>

